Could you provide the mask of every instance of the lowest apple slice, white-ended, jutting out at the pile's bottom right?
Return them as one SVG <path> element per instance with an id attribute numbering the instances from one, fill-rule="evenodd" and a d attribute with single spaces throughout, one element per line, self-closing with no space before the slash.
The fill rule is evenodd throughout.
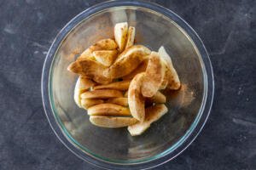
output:
<path id="1" fill-rule="evenodd" d="M 160 119 L 161 116 L 164 116 L 167 113 L 168 109 L 166 105 L 154 105 L 146 108 L 146 117 L 144 122 L 137 122 L 128 127 L 129 133 L 131 136 L 137 136 L 144 133 L 148 127 L 150 127 L 152 122 L 156 122 Z"/>

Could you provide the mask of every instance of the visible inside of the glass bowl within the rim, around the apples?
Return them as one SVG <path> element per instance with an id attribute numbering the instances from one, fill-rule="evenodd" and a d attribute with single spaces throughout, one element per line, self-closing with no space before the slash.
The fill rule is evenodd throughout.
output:
<path id="1" fill-rule="evenodd" d="M 128 21 L 136 27 L 136 43 L 154 51 L 165 46 L 182 82 L 179 91 L 165 91 L 169 111 L 146 133 L 131 137 L 126 128 L 102 128 L 89 122 L 86 111 L 73 100 L 77 75 L 67 71 L 85 48 L 102 38 L 113 38 L 113 26 Z M 205 94 L 204 65 L 194 42 L 180 26 L 148 8 L 108 8 L 82 20 L 69 32 L 55 53 L 49 94 L 55 119 L 67 139 L 85 153 L 103 161 L 149 161 L 175 149 L 193 130 Z M 193 126 L 192 126 L 193 124 Z"/>

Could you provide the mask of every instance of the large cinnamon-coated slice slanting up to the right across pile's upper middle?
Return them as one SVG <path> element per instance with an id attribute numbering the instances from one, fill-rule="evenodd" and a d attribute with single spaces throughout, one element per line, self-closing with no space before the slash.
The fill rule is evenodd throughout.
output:
<path id="1" fill-rule="evenodd" d="M 119 54 L 113 65 L 104 71 L 104 76 L 110 79 L 124 77 L 135 70 L 144 59 L 147 59 L 150 53 L 151 51 L 143 45 L 127 48 Z"/>

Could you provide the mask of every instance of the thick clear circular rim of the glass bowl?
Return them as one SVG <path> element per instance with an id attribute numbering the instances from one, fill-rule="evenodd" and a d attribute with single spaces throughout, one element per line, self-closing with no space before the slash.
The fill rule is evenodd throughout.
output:
<path id="1" fill-rule="evenodd" d="M 72 144 L 70 140 L 65 136 L 61 130 L 61 126 L 58 124 L 57 120 L 54 116 L 54 111 L 51 106 L 50 101 L 50 93 L 49 93 L 49 86 L 50 86 L 50 73 L 51 73 L 51 65 L 55 59 L 55 52 L 61 45 L 61 42 L 65 39 L 70 31 L 73 30 L 75 26 L 78 26 L 79 23 L 88 18 L 92 14 L 96 14 L 107 8 L 114 8 L 114 7 L 121 7 L 121 6 L 135 6 L 141 8 L 148 8 L 158 12 L 160 14 L 164 14 L 166 17 L 171 18 L 178 26 L 180 26 L 186 33 L 189 35 L 191 41 L 195 43 L 196 48 L 198 49 L 199 53 L 201 54 L 201 59 L 204 64 L 205 70 L 204 72 L 204 81 L 207 90 L 205 90 L 205 97 L 204 97 L 204 105 L 201 107 L 201 113 L 196 116 L 195 121 L 192 123 L 191 127 L 187 133 L 184 134 L 186 138 L 181 138 L 177 141 L 176 147 L 170 147 L 172 150 L 168 149 L 166 153 L 160 153 L 161 156 L 154 158 L 148 161 L 141 161 L 141 162 L 131 162 L 131 163 L 122 163 L 122 162 L 113 162 L 102 160 L 99 157 L 92 156 L 90 153 L 84 153 L 84 151 L 80 150 L 78 146 Z M 49 52 L 46 56 L 44 61 L 44 67 L 42 72 L 42 80 L 41 80 L 41 92 L 42 92 L 42 99 L 44 105 L 44 112 L 49 121 L 49 124 L 55 135 L 58 139 L 61 140 L 61 143 L 64 144 L 68 150 L 71 150 L 74 155 L 79 156 L 84 161 L 87 161 L 91 164 L 96 165 L 97 167 L 102 167 L 106 169 L 147 169 L 152 167 L 157 167 L 166 161 L 170 161 L 176 156 L 178 156 L 183 150 L 185 150 L 189 144 L 191 144 L 196 136 L 201 132 L 202 127 L 204 127 L 205 123 L 207 122 L 207 117 L 210 114 L 212 108 L 212 100 L 214 95 L 214 80 L 213 80 L 213 71 L 212 71 L 212 64 L 209 56 L 207 54 L 207 49 L 205 48 L 203 42 L 201 42 L 201 38 L 197 35 L 197 33 L 193 30 L 188 23 L 186 23 L 181 17 L 177 14 L 173 13 L 170 9 L 164 8 L 156 3 L 148 3 L 143 1 L 108 1 L 104 3 L 98 3 L 95 6 L 87 8 L 77 16 L 70 20 L 66 26 L 64 26 L 58 35 L 55 37 L 54 42 L 49 48 Z M 184 137 L 183 136 L 183 137 Z M 173 146 L 172 145 L 172 146 Z"/>

